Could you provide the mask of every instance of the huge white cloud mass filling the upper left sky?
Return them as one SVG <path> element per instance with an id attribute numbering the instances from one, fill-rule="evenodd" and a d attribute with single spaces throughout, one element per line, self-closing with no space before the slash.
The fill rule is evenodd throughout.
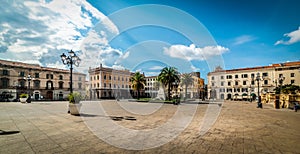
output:
<path id="1" fill-rule="evenodd" d="M 62 52 L 78 51 L 83 40 L 93 35 L 98 37 L 94 42 L 102 44 L 97 51 L 120 53 L 108 46 L 105 33 L 86 33 L 94 28 L 95 21 L 101 21 L 111 33 L 117 34 L 118 29 L 85 0 L 3 1 L 0 9 L 0 57 L 60 67 L 57 64 Z"/>

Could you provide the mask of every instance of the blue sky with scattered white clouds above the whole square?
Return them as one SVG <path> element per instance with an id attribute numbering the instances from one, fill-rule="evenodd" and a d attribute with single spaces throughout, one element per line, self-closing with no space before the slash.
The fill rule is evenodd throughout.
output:
<path id="1" fill-rule="evenodd" d="M 78 71 L 104 66 L 157 75 L 298 61 L 298 0 L 4 0 L 0 58 Z"/>

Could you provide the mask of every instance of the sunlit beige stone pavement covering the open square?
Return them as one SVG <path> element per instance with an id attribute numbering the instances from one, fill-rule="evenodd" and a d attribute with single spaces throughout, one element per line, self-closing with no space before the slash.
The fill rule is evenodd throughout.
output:
<path id="1" fill-rule="evenodd" d="M 0 103 L 0 153 L 300 153 L 297 146 L 300 142 L 300 112 L 289 109 L 276 110 L 271 105 L 258 109 L 255 103 L 249 102 L 212 104 L 222 110 L 216 123 L 202 135 L 199 127 L 210 118 L 206 117 L 206 111 L 211 106 L 183 103 L 179 106 L 187 113 L 179 117 L 189 116 L 188 111 L 194 107 L 196 113 L 177 137 L 155 148 L 128 150 L 130 148 L 118 148 L 105 142 L 120 137 L 113 133 L 117 132 L 116 127 L 105 127 L 105 122 L 112 121 L 128 130 L 151 130 L 168 122 L 179 106 L 153 103 L 149 107 L 158 110 L 141 115 L 124 110 L 116 101 L 87 103 L 95 108 L 101 105 L 105 114 L 82 110 L 81 116 L 72 116 L 66 113 L 67 102 Z M 131 104 L 132 108 L 147 106 L 136 102 L 118 103 Z M 90 125 L 89 122 L 98 119 L 104 122 L 103 125 Z M 103 139 L 99 132 L 104 130 L 112 133 Z M 9 132 L 12 134 L 6 134 Z M 130 140 L 135 143 L 139 137 Z M 155 137 L 149 136 L 149 139 Z"/>

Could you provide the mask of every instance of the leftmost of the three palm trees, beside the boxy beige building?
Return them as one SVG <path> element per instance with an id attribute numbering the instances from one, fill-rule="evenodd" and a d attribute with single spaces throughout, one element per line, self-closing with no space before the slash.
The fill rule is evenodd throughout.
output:
<path id="1" fill-rule="evenodd" d="M 131 78 L 130 81 L 132 83 L 132 87 L 134 90 L 138 92 L 137 99 L 140 98 L 140 90 L 145 87 L 145 76 L 140 72 L 136 72 Z"/>

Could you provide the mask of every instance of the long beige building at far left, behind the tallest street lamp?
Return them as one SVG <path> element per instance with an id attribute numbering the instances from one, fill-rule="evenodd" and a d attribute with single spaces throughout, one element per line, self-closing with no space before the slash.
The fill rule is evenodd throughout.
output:
<path id="1" fill-rule="evenodd" d="M 73 73 L 73 91 L 85 95 L 85 78 L 85 74 Z M 69 81 L 69 70 L 0 60 L 0 94 L 10 101 L 29 92 L 33 100 L 63 100 L 69 94 Z"/>

